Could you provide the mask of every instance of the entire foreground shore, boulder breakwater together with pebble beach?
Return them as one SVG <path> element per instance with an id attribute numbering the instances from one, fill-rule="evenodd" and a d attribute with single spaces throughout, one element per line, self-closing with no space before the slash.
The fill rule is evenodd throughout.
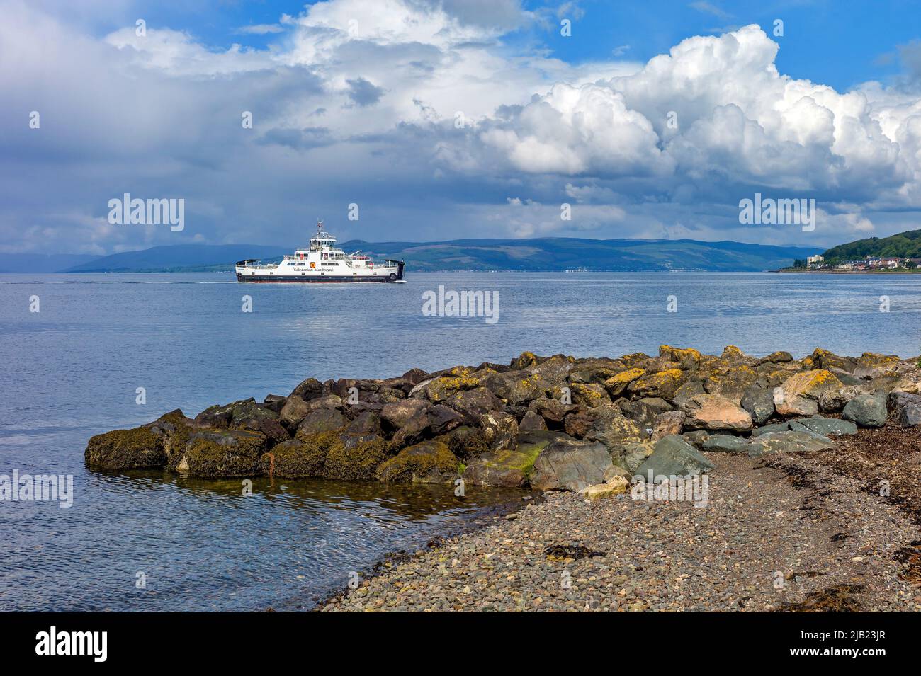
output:
<path id="1" fill-rule="evenodd" d="M 916 576 L 921 556 L 919 361 L 662 345 L 307 378 L 261 404 L 99 434 L 85 461 L 542 492 L 368 562 L 317 610 L 918 610 L 903 568 Z"/>

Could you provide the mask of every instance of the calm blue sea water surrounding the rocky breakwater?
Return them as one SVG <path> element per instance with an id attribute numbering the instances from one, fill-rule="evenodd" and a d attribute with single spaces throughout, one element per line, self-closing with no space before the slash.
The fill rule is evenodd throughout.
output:
<path id="1" fill-rule="evenodd" d="M 921 277 L 413 273 L 398 285 L 239 285 L 228 274 L 0 275 L 0 474 L 73 474 L 74 507 L 0 502 L 0 610 L 294 607 L 507 494 L 87 473 L 88 437 L 181 407 L 539 354 L 921 351 Z M 422 315 L 497 291 L 499 320 Z M 252 312 L 241 312 L 241 297 Z M 29 313 L 39 296 L 40 313 Z M 668 296 L 678 312 L 667 312 Z M 880 313 L 880 296 L 891 311 Z M 146 406 L 134 403 L 146 388 Z M 146 590 L 135 589 L 138 571 Z"/>

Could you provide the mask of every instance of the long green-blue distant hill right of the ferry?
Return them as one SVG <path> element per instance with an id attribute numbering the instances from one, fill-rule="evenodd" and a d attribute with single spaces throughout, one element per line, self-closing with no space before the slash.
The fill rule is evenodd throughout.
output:
<path id="1" fill-rule="evenodd" d="M 374 258 L 399 258 L 412 270 L 624 270 L 760 271 L 790 265 L 821 251 L 693 239 L 457 239 L 449 242 L 345 242 Z"/>

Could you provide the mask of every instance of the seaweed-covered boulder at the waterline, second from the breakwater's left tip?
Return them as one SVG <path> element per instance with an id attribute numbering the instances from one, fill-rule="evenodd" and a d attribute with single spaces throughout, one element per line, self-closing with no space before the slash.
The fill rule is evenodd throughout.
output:
<path id="1" fill-rule="evenodd" d="M 193 430 L 169 459 L 169 469 L 190 476 L 262 474 L 265 437 L 246 430 Z"/>

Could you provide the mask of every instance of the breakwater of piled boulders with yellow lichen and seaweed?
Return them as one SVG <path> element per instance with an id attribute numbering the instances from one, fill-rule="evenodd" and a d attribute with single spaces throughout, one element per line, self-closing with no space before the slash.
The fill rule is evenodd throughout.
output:
<path id="1" fill-rule="evenodd" d="M 91 469 L 276 475 L 583 492 L 633 476 L 693 475 L 700 453 L 834 449 L 892 418 L 921 424 L 917 359 L 816 349 L 752 357 L 662 346 L 658 356 L 538 357 L 398 378 L 308 378 L 268 395 L 181 410 L 89 440 Z"/>

